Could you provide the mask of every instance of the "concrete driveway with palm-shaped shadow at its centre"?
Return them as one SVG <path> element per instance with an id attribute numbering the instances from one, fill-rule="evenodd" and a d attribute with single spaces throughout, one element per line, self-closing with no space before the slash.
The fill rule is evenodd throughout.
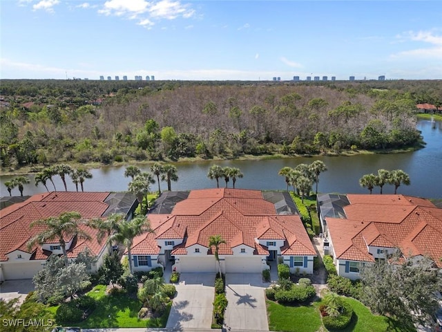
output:
<path id="1" fill-rule="evenodd" d="M 224 314 L 224 325 L 227 329 L 269 331 L 265 287 L 261 273 L 226 274 L 229 304 Z"/>

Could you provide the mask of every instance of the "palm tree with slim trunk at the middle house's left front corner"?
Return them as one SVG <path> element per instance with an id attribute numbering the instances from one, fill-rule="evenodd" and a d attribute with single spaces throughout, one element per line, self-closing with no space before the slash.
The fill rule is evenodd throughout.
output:
<path id="1" fill-rule="evenodd" d="M 111 234 L 108 237 L 108 243 L 122 243 L 127 248 L 127 254 L 129 258 L 129 270 L 132 274 L 132 253 L 131 247 L 133 239 L 138 235 L 146 232 L 152 232 L 151 227 L 145 216 L 135 216 L 134 219 L 126 221 L 119 225 L 118 231 Z"/>

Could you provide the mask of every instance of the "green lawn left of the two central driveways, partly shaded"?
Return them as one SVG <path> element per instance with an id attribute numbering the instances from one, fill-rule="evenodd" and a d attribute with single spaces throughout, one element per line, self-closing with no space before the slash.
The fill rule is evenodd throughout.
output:
<path id="1" fill-rule="evenodd" d="M 139 299 L 122 295 L 106 295 L 106 286 L 95 286 L 88 293 L 97 302 L 97 308 L 83 322 L 73 323 L 75 326 L 82 328 L 111 328 L 111 327 L 165 327 L 169 311 L 171 310 L 171 302 L 168 304 L 166 311 L 157 319 L 139 320 L 138 311 L 142 307 Z M 56 311 L 56 307 L 54 310 Z"/>

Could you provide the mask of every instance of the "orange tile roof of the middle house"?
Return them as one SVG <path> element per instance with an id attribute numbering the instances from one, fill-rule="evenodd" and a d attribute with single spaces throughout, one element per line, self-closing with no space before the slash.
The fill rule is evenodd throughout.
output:
<path id="1" fill-rule="evenodd" d="M 169 200 L 169 194 L 164 196 L 154 212 L 170 210 L 170 205 L 162 208 Z M 186 255 L 189 246 L 208 248 L 209 237 L 220 234 L 227 242 L 220 246 L 221 255 L 232 255 L 232 249 L 240 245 L 254 248 L 255 255 L 268 255 L 257 239 L 284 241 L 282 255 L 316 255 L 294 203 L 285 194 L 222 188 L 193 190 L 186 199 L 184 193 L 171 194 L 174 197 L 180 201 L 170 213 L 148 214 L 153 233 L 134 239 L 133 254 L 158 254 L 158 239 L 183 239 L 172 255 Z"/>

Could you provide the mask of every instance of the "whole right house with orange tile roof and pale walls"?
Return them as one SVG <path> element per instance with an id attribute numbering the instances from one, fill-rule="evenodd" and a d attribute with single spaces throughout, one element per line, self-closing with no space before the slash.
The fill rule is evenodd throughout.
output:
<path id="1" fill-rule="evenodd" d="M 400 253 L 442 268 L 442 209 L 427 199 L 388 194 L 318 196 L 323 234 L 338 275 L 358 279 L 363 264 Z"/>

